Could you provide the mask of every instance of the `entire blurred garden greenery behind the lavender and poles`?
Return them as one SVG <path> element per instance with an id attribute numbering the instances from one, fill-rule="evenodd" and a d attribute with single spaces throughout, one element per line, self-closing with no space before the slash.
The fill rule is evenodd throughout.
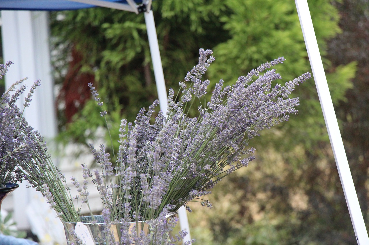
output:
<path id="1" fill-rule="evenodd" d="M 369 2 L 308 4 L 368 226 Z M 167 89 L 178 88 L 199 48 L 214 51 L 213 85 L 221 78 L 232 84 L 279 56 L 287 59 L 276 67 L 281 82 L 310 70 L 292 0 L 161 0 L 152 7 Z M 105 127 L 88 82 L 117 137 L 120 119 L 134 121 L 157 97 L 144 16 L 92 8 L 51 12 L 50 21 L 59 142 L 87 144 Z M 256 160 L 213 189 L 214 208 L 190 205 L 197 244 L 356 244 L 313 79 L 294 95 L 299 114 L 251 142 Z"/>

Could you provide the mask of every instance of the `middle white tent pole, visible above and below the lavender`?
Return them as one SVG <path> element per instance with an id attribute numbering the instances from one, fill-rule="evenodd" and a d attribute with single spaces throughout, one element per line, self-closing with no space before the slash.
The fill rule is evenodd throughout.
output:
<path id="1" fill-rule="evenodd" d="M 167 97 L 167 92 L 165 88 L 163 67 L 162 67 L 161 57 L 160 57 L 160 52 L 159 52 L 158 37 L 156 35 L 154 14 L 152 13 L 152 10 L 149 10 L 149 12 L 145 12 L 144 14 L 145 14 L 147 35 L 149 37 L 149 46 L 150 46 L 150 52 L 151 52 L 152 66 L 154 67 L 156 90 L 158 91 L 158 97 L 159 97 L 159 106 L 165 115 L 167 111 L 166 101 L 168 97 Z M 183 206 L 179 208 L 178 216 L 179 216 L 179 224 L 180 224 L 181 230 L 187 231 L 186 237 L 183 238 L 183 243 L 187 241 L 191 241 L 190 226 L 188 223 L 187 211 Z"/>

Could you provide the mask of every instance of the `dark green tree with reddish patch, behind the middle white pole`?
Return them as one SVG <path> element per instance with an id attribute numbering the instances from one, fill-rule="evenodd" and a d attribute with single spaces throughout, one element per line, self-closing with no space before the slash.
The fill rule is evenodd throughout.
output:
<path id="1" fill-rule="evenodd" d="M 224 6 L 219 0 L 166 0 L 154 2 L 153 8 L 169 89 L 192 68 L 200 47 L 212 48 L 227 39 L 228 31 L 218 18 Z M 90 97 L 83 89 L 88 82 L 94 82 L 103 93 L 110 113 L 128 121 L 134 121 L 139 109 L 157 98 L 143 14 L 92 8 L 55 12 L 51 20 L 54 49 L 59 50 L 54 57 L 56 77 L 60 78 L 57 83 L 69 88 L 62 89 L 59 96 L 60 139 L 87 142 L 93 135 L 86 132 L 104 125 L 96 120 L 96 114 L 89 113 L 92 105 L 84 107 L 85 98 Z M 68 59 L 72 60 L 69 64 L 65 62 Z M 69 80 L 65 79 L 66 70 Z M 66 118 L 71 110 L 80 113 Z M 112 135 L 118 132 L 113 130 Z"/>

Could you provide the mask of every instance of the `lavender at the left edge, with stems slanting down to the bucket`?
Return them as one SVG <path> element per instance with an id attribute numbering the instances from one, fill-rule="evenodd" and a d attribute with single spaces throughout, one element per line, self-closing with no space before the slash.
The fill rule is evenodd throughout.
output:
<path id="1" fill-rule="evenodd" d="M 0 64 L 0 79 L 8 71 L 13 62 Z M 62 181 L 60 170 L 54 166 L 47 152 L 46 143 L 38 131 L 34 130 L 23 117 L 25 107 L 31 102 L 31 97 L 40 81 L 31 86 L 24 97 L 23 109 L 16 102 L 27 89 L 22 83 L 23 78 L 7 89 L 0 99 L 0 188 L 6 184 L 27 180 L 37 191 L 44 195 L 52 187 L 52 195 L 58 205 L 51 203 L 63 220 L 75 220 L 79 216 L 75 210 L 68 187 Z"/>

